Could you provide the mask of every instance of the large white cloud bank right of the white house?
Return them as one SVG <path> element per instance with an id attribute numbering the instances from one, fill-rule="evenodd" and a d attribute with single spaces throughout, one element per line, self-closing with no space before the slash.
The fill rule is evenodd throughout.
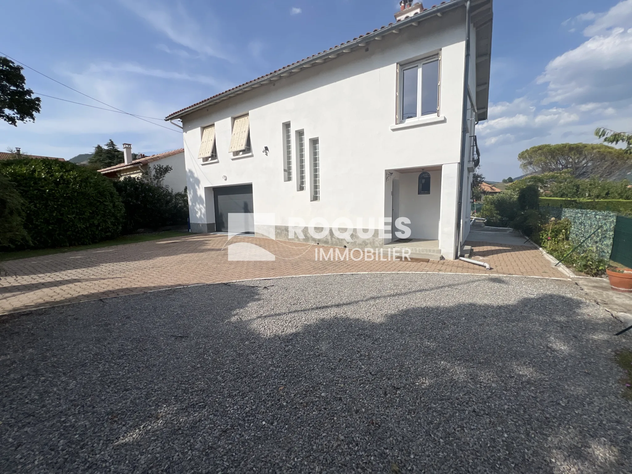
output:
<path id="1" fill-rule="evenodd" d="M 512 102 L 490 104 L 489 120 L 477 132 L 485 155 L 483 174 L 490 179 L 521 173 L 516 157 L 534 145 L 599 142 L 593 135 L 598 126 L 629 130 L 632 0 L 605 13 L 570 18 L 564 26 L 580 23 L 587 39 L 552 59 L 530 92 Z"/>

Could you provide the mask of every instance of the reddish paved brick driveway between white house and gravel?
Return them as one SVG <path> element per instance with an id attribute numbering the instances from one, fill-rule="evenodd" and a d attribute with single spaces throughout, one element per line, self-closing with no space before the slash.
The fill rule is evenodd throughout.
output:
<path id="1" fill-rule="evenodd" d="M 460 261 L 316 261 L 315 246 L 233 237 L 276 255 L 274 262 L 229 262 L 227 237 L 196 234 L 3 263 L 0 314 L 193 284 L 347 272 L 448 272 L 564 278 L 537 248 L 468 242 L 492 270 Z M 329 249 L 324 248 L 326 251 Z"/>

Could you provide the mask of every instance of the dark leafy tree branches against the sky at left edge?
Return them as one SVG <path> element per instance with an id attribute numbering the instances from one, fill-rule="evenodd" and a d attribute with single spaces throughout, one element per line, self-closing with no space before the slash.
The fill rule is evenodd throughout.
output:
<path id="1" fill-rule="evenodd" d="M 25 88 L 27 81 L 22 70 L 22 66 L 0 56 L 0 119 L 13 126 L 18 126 L 18 121 L 35 121 L 42 102 Z"/>

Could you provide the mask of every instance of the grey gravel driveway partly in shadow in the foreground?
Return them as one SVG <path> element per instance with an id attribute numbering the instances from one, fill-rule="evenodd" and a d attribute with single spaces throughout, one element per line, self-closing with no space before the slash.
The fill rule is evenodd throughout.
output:
<path id="1" fill-rule="evenodd" d="M 361 274 L 0 324 L 0 471 L 632 471 L 614 351 L 568 282 Z"/>

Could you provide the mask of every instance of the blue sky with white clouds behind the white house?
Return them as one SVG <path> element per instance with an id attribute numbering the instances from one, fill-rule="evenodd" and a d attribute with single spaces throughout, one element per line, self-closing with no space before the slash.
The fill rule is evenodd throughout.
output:
<path id="1" fill-rule="evenodd" d="M 397 8 L 395 0 L 21 0 L 3 4 L 0 51 L 160 119 L 386 25 Z M 25 76 L 39 94 L 101 106 L 33 71 Z M 521 150 L 595 142 L 596 126 L 632 130 L 631 77 L 632 0 L 495 0 L 491 107 L 478 129 L 483 174 L 521 174 Z M 47 97 L 35 123 L 0 124 L 3 151 L 68 159 L 109 138 L 145 154 L 182 145 L 176 131 Z"/>

